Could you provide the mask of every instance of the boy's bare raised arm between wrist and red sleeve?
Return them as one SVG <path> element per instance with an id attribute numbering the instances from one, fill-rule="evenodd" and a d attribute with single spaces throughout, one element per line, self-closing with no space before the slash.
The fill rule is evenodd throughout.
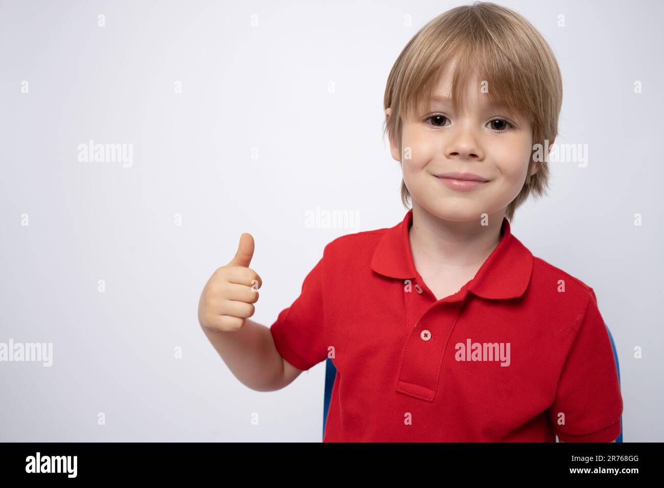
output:
<path id="1" fill-rule="evenodd" d="M 290 384 L 302 372 L 286 363 L 274 345 L 270 329 L 246 319 L 237 331 L 213 331 L 201 326 L 216 352 L 242 384 L 269 392 Z"/>

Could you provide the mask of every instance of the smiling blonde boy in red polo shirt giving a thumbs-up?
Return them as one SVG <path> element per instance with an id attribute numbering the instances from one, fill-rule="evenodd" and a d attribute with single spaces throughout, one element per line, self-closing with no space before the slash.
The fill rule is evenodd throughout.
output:
<path id="1" fill-rule="evenodd" d="M 406 45 L 384 96 L 402 167 L 396 226 L 325 246 L 270 329 L 242 234 L 199 321 L 254 390 L 337 367 L 324 442 L 612 442 L 622 396 L 594 291 L 511 234 L 545 193 L 562 104 L 558 64 L 517 13 L 457 7 Z M 539 146 L 538 146 L 539 145 Z"/>

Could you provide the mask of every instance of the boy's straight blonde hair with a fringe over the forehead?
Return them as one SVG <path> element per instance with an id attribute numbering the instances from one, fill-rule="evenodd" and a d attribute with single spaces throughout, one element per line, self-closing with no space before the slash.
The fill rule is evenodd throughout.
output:
<path id="1" fill-rule="evenodd" d="M 542 35 L 524 17 L 495 3 L 475 2 L 450 9 L 429 21 L 408 41 L 387 80 L 384 108 L 390 115 L 384 131 L 402 154 L 402 114 L 426 107 L 440 74 L 454 58 L 452 102 L 454 108 L 466 103 L 465 91 L 471 78 L 488 82 L 489 99 L 495 106 L 509 108 L 531 121 L 533 146 L 552 143 L 558 133 L 562 106 L 562 77 L 556 58 Z M 426 110 L 426 109 L 424 109 Z M 548 148 L 547 148 L 548 149 Z M 546 195 L 549 167 L 533 159 L 525 184 L 507 206 L 505 216 L 533 194 Z M 533 164 L 540 167 L 530 176 Z M 406 208 L 410 193 L 401 181 L 401 200 Z"/>

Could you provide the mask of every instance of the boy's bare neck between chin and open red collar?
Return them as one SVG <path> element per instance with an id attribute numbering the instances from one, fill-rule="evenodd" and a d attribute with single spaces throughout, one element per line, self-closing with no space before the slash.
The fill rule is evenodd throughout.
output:
<path id="1" fill-rule="evenodd" d="M 443 220 L 413 201 L 408 231 L 415 268 L 477 268 L 498 246 L 505 209 L 489 214 L 486 226 L 479 218 L 469 222 Z M 420 272 L 421 274 L 421 272 Z"/>

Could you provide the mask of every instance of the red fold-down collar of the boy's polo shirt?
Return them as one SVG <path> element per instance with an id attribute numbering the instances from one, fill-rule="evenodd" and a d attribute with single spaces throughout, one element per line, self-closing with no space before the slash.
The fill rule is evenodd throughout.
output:
<path id="1" fill-rule="evenodd" d="M 371 260 L 371 269 L 390 278 L 416 278 L 418 273 L 410 249 L 408 229 L 412 208 L 402 222 L 388 228 L 380 238 Z M 468 291 L 489 299 L 516 298 L 523 295 L 531 280 L 533 254 L 512 235 L 507 217 L 501 225 L 503 237 L 468 283 Z"/>

